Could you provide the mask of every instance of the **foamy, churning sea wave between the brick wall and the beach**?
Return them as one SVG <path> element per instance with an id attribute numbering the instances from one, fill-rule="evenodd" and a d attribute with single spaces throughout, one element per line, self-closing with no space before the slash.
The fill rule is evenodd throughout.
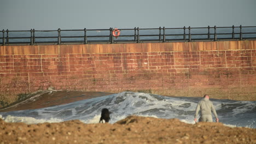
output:
<path id="1" fill-rule="evenodd" d="M 84 123 L 98 123 L 101 110 L 109 109 L 110 123 L 136 115 L 155 118 L 178 118 L 194 124 L 194 114 L 201 98 L 165 97 L 162 95 L 121 92 L 43 109 L 0 112 L 5 122 L 27 124 L 63 122 L 79 119 Z M 232 127 L 256 128 L 256 101 L 211 99 L 217 110 L 219 122 Z M 214 116 L 213 116 L 214 119 Z"/>

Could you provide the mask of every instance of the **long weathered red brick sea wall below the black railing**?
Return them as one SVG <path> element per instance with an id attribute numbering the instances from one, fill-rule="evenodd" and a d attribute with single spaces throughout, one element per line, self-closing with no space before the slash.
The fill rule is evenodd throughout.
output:
<path id="1" fill-rule="evenodd" d="M 256 41 L 0 46 L 0 96 L 42 89 L 256 100 Z"/>

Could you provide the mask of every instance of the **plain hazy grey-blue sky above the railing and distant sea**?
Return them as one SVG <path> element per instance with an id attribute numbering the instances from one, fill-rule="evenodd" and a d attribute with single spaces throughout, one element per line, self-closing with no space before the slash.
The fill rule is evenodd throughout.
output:
<path id="1" fill-rule="evenodd" d="M 0 31 L 256 26 L 256 0 L 0 0 Z"/>

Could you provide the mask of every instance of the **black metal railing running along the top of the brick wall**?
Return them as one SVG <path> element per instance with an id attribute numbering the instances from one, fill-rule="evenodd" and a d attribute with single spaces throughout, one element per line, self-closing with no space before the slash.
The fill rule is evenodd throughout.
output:
<path id="1" fill-rule="evenodd" d="M 174 41 L 220 41 L 256 39 L 256 26 L 251 27 L 183 27 L 119 29 L 57 29 L 53 31 L 5 31 L 1 45 L 159 43 Z"/>

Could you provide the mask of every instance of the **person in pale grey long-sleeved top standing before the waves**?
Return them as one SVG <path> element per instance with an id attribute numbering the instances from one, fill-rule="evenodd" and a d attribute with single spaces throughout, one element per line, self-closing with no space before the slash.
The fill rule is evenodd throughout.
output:
<path id="1" fill-rule="evenodd" d="M 214 109 L 212 101 L 209 100 L 208 95 L 203 95 L 203 99 L 200 100 L 196 106 L 195 119 L 194 119 L 195 122 L 197 121 L 197 115 L 200 110 L 201 110 L 201 117 L 199 118 L 199 122 L 213 122 L 212 121 L 212 112 L 216 118 L 216 122 L 219 122 L 217 112 Z"/>

